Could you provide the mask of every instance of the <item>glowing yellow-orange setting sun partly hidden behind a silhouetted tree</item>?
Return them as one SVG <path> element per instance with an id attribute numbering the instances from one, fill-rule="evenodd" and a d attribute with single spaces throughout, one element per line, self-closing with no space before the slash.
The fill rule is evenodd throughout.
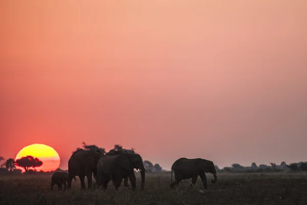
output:
<path id="1" fill-rule="evenodd" d="M 25 156 L 33 156 L 37 157 L 40 161 L 42 161 L 42 165 L 40 167 L 35 167 L 36 171 L 44 171 L 50 172 L 54 171 L 60 166 L 60 157 L 59 154 L 52 148 L 43 144 L 33 144 L 21 149 L 15 157 L 16 159 L 20 159 Z M 24 170 L 16 166 L 16 168 Z"/>

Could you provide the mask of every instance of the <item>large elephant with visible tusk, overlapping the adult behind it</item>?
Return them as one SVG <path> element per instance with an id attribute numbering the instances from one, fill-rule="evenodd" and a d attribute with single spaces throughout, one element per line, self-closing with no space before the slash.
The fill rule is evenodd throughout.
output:
<path id="1" fill-rule="evenodd" d="M 130 154 L 122 151 L 112 151 L 100 158 L 97 165 L 97 186 L 105 191 L 107 184 L 112 180 L 115 190 L 120 187 L 121 181 L 129 177 L 131 187 L 136 190 L 136 175 L 134 169 L 141 172 L 141 190 L 144 190 L 145 168 L 139 154 Z"/>

